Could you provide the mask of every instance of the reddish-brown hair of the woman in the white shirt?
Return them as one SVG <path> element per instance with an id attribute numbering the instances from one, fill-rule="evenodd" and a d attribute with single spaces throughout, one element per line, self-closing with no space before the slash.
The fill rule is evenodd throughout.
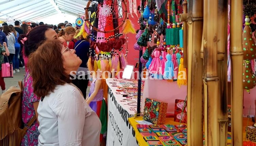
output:
<path id="1" fill-rule="evenodd" d="M 62 47 L 62 42 L 49 40 L 29 55 L 28 67 L 38 97 L 47 96 L 56 86 L 71 82 L 63 67 Z"/>

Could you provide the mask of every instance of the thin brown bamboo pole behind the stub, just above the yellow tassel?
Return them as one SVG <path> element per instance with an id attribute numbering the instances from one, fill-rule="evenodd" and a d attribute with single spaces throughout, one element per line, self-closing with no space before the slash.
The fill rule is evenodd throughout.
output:
<path id="1" fill-rule="evenodd" d="M 184 0 L 183 2 L 183 14 L 188 13 L 188 2 Z M 183 23 L 183 59 L 184 59 L 184 68 L 188 67 L 188 24 Z"/>

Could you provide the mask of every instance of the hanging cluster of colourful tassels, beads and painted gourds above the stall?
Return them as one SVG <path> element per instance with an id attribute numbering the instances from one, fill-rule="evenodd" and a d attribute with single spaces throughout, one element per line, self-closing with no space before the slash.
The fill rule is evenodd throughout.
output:
<path id="1" fill-rule="evenodd" d="M 138 20 L 140 29 L 137 30 L 137 42 L 134 44 L 135 50 L 145 48 L 140 61 L 147 67 L 150 76 L 168 81 L 177 80 L 179 87 L 187 84 L 187 70 L 181 65 L 183 28 L 179 22 L 179 14 L 183 13 L 182 3 L 175 0 L 156 1 L 156 4 L 145 1 L 143 11 L 138 8 L 142 15 Z M 165 15 L 162 16 L 163 13 Z M 163 36 L 160 37 L 161 35 Z"/>

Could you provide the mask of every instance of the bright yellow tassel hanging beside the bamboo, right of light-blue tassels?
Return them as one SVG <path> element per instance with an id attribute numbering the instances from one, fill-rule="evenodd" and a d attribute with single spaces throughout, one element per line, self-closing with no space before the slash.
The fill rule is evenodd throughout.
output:
<path id="1" fill-rule="evenodd" d="M 179 66 L 178 79 L 177 79 L 177 83 L 179 87 L 181 87 L 182 85 L 187 85 L 187 69 L 184 68 L 183 58 L 181 58 L 180 62 L 181 64 Z"/>

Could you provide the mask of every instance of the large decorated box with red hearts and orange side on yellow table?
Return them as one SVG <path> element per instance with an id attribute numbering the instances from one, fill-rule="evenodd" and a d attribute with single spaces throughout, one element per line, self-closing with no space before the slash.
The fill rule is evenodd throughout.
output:
<path id="1" fill-rule="evenodd" d="M 164 124 L 166 119 L 168 103 L 146 98 L 144 106 L 143 120 L 153 124 Z"/>

